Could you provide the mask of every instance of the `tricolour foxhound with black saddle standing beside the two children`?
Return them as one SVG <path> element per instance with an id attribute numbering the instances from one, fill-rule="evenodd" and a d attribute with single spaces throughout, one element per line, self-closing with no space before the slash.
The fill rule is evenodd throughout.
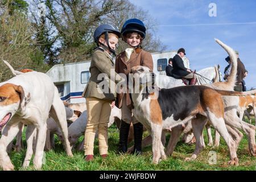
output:
<path id="1" fill-rule="evenodd" d="M 214 90 L 207 86 L 178 86 L 171 89 L 154 89 L 155 74 L 147 67 L 136 66 L 131 69 L 133 73 L 134 88 L 139 92 L 131 93 L 133 101 L 133 114 L 151 133 L 153 163 L 159 159 L 166 159 L 164 147 L 161 142 L 162 130 L 171 130 L 173 127 L 187 123 L 204 126 L 209 119 L 212 126 L 221 134 L 230 151 L 229 164 L 238 165 L 234 140 L 230 137 L 224 122 L 224 103 L 221 96 L 244 96 L 242 92 Z M 139 82 L 138 82 L 139 81 Z M 203 145 L 201 135 L 202 127 L 194 129 L 196 142 Z"/>

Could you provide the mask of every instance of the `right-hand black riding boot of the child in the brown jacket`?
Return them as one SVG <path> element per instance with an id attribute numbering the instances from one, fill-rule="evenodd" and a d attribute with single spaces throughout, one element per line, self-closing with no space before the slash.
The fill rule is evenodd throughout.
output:
<path id="1" fill-rule="evenodd" d="M 142 123 L 136 123 L 133 125 L 134 130 L 134 150 L 133 154 L 141 155 L 142 154 L 142 134 L 143 134 L 143 125 Z"/>

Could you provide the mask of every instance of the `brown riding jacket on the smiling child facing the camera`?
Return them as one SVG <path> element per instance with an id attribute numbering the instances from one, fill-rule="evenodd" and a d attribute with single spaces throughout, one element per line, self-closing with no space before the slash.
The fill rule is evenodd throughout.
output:
<path id="1" fill-rule="evenodd" d="M 131 53 L 130 59 L 126 61 L 126 54 L 125 51 L 122 51 L 117 55 L 115 58 L 115 72 L 117 73 L 124 73 L 126 76 L 128 76 L 128 73 L 130 73 L 131 68 L 142 65 L 144 67 L 148 67 L 151 71 L 153 71 L 153 59 L 150 52 L 146 52 L 143 49 L 136 49 L 133 53 Z M 129 96 L 128 89 L 126 91 L 126 104 L 127 106 L 131 105 L 131 100 Z M 115 105 L 117 105 L 119 108 L 122 106 L 122 98 L 124 93 L 117 94 L 117 100 Z"/>

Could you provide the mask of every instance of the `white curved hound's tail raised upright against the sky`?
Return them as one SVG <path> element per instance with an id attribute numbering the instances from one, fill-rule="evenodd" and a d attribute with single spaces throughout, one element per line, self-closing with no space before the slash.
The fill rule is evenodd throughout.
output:
<path id="1" fill-rule="evenodd" d="M 223 42 L 221 42 L 218 39 L 215 39 L 215 41 L 220 44 L 220 46 L 222 48 L 225 49 L 225 51 L 228 53 L 230 60 L 231 60 L 231 71 L 230 74 L 228 76 L 228 86 L 230 86 L 230 88 L 234 88 L 235 84 L 236 84 L 236 75 L 237 75 L 237 56 L 236 53 L 234 52 L 234 50 L 227 46 L 226 44 L 224 44 Z"/>

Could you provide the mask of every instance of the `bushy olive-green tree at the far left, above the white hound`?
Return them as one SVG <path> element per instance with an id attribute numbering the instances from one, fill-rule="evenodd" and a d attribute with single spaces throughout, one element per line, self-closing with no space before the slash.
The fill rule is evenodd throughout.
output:
<path id="1" fill-rule="evenodd" d="M 31 68 L 45 71 L 45 65 L 38 65 L 32 59 L 36 51 L 32 39 L 35 32 L 26 14 L 20 11 L 9 14 L 8 7 L 2 6 L 0 22 L 0 81 L 12 76 L 2 59 L 9 61 L 17 70 Z"/>

